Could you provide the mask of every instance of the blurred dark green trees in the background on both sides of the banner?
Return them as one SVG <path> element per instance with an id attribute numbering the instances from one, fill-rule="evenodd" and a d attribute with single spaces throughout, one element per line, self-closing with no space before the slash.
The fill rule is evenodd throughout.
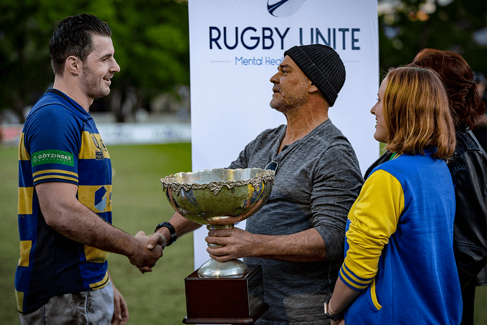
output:
<path id="1" fill-rule="evenodd" d="M 26 106 L 54 81 L 48 43 L 56 21 L 91 13 L 112 29 L 115 74 L 110 96 L 91 110 L 123 122 L 174 85 L 189 85 L 187 0 L 1 0 L 0 111 L 24 121 Z M 486 73 L 486 1 L 379 0 L 380 77 L 424 47 L 453 50 Z"/>

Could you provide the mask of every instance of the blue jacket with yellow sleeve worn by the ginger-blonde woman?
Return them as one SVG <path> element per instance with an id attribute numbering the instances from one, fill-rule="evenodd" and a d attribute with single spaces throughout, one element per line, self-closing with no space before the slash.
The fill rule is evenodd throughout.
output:
<path id="1" fill-rule="evenodd" d="M 460 324 L 455 194 L 447 164 L 431 153 L 377 166 L 348 214 L 339 277 L 362 292 L 347 324 Z"/>

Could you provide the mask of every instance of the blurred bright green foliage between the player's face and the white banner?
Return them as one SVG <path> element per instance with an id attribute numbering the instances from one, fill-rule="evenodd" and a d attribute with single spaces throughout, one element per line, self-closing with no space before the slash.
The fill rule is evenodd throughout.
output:
<path id="1" fill-rule="evenodd" d="M 105 21 L 121 68 L 113 84 L 130 85 L 151 96 L 177 83 L 189 85 L 187 4 L 113 1 Z"/>

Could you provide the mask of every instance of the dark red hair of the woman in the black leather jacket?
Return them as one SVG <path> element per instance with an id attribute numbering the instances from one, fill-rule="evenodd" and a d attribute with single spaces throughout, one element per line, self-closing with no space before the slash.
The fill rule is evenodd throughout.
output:
<path id="1" fill-rule="evenodd" d="M 438 73 L 447 90 L 455 129 L 466 126 L 472 129 L 485 113 L 486 105 L 478 94 L 472 69 L 458 53 L 426 48 L 419 51 L 409 65 L 430 68 Z"/>

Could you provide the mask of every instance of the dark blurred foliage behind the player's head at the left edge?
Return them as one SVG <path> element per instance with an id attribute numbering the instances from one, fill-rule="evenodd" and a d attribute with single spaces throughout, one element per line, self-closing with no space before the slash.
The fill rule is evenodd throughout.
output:
<path id="1" fill-rule="evenodd" d="M 0 110 L 20 114 L 33 100 L 32 90 L 52 81 L 46 76 L 52 75 L 47 42 L 53 21 L 40 8 L 38 1 L 0 2 Z"/>

